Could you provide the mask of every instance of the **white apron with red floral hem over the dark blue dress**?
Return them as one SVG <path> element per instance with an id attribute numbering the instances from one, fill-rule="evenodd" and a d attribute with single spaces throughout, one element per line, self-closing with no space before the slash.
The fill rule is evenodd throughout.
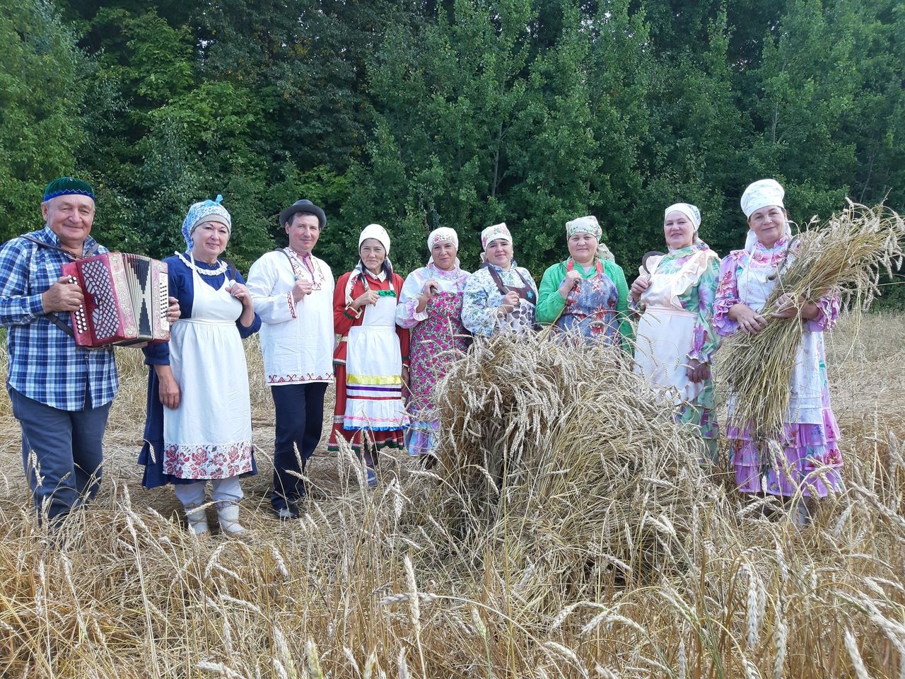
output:
<path id="1" fill-rule="evenodd" d="M 245 352 L 235 321 L 242 315 L 224 280 L 214 290 L 192 272 L 192 318 L 170 330 L 170 368 L 181 399 L 164 409 L 164 473 L 225 479 L 252 471 L 252 407 Z"/>

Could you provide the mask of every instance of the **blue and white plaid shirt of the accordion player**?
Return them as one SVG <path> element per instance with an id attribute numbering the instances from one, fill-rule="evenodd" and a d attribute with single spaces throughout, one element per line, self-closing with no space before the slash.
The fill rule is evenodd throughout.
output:
<path id="1" fill-rule="evenodd" d="M 49 226 L 29 235 L 60 246 Z M 94 246 L 94 239 L 86 239 L 86 251 Z M 101 247 L 98 252 L 107 250 Z M 44 314 L 41 295 L 69 261 L 59 250 L 24 238 L 7 241 L 0 248 L 0 325 L 7 329 L 8 386 L 47 406 L 81 410 L 86 389 L 91 407 L 110 403 L 119 378 L 113 349 L 81 349 Z M 56 315 L 71 326 L 68 312 Z"/>

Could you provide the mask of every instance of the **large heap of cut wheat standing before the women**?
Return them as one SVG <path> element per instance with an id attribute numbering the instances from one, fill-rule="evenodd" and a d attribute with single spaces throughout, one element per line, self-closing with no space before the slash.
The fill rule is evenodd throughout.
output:
<path id="1" fill-rule="evenodd" d="M 614 349 L 481 340 L 437 398 L 455 531 L 564 587 L 599 569 L 618 581 L 682 569 L 696 505 L 720 502 L 699 439 Z"/>

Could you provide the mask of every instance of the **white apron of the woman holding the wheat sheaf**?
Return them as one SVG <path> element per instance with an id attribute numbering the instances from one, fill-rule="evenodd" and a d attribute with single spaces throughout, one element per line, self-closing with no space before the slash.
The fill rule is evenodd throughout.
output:
<path id="1" fill-rule="evenodd" d="M 738 299 L 747 304 L 753 311 L 764 308 L 764 302 L 776 286 L 776 278 L 769 277 L 776 273 L 767 267 L 752 269 L 748 263 L 738 274 Z M 741 331 L 741 330 L 739 330 Z M 786 411 L 786 424 L 822 425 L 823 402 L 820 383 L 820 359 L 824 355 L 824 333 L 806 330 L 798 343 L 795 368 L 792 372 L 792 383 L 789 385 L 790 398 Z M 729 417 L 734 404 L 729 400 Z"/>

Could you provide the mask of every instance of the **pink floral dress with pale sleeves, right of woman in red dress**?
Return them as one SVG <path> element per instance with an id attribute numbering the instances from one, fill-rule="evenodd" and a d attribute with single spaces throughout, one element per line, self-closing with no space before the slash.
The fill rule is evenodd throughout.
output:
<path id="1" fill-rule="evenodd" d="M 469 273 L 457 265 L 443 271 L 433 263 L 416 269 L 405 278 L 396 323 L 411 329 L 409 344 L 408 413 L 411 423 L 405 443 L 410 455 L 428 453 L 434 445 L 437 419 L 433 387 L 471 344 L 468 330 L 462 326 L 462 296 Z M 438 283 L 438 291 L 423 311 L 415 311 L 424 283 Z"/>

